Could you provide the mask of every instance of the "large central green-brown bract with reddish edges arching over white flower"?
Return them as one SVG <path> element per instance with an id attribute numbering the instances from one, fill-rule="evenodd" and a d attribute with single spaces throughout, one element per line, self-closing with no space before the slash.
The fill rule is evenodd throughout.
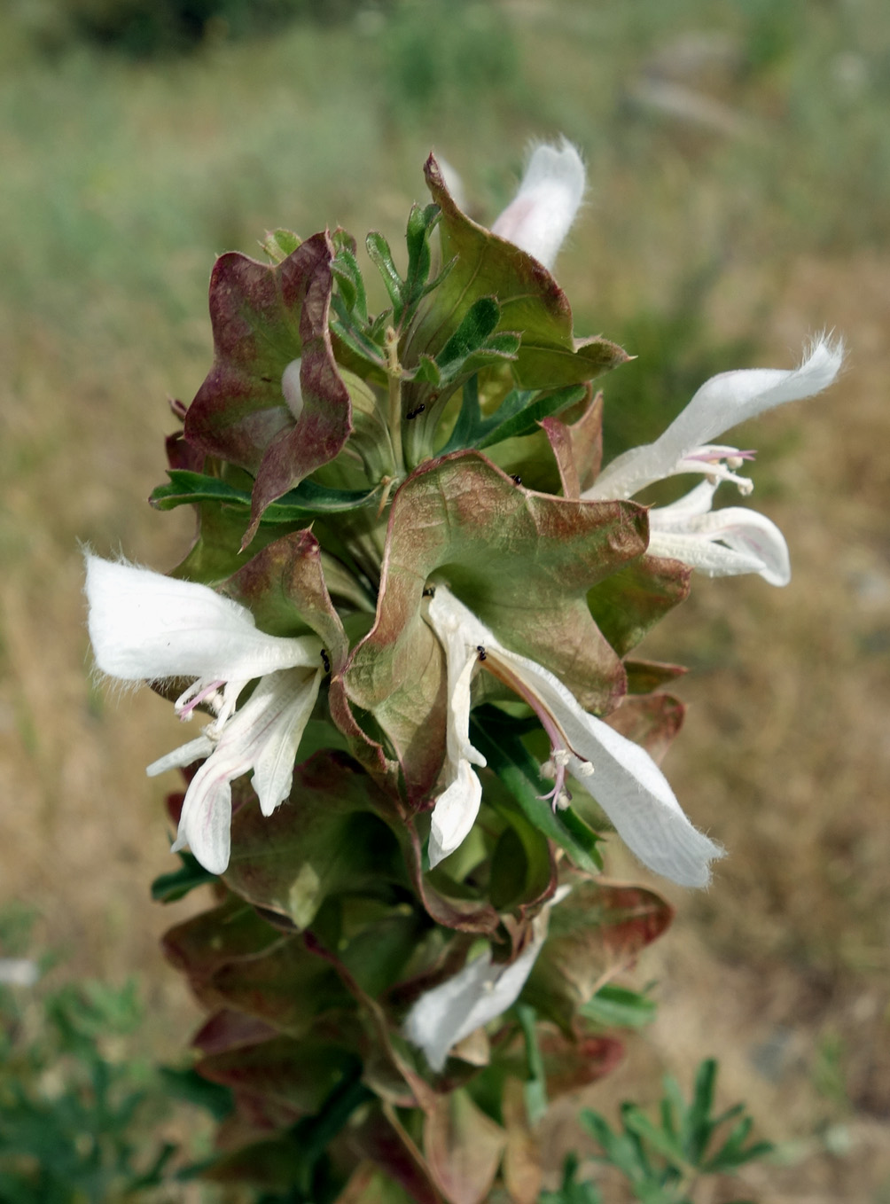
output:
<path id="1" fill-rule="evenodd" d="M 412 802 L 432 790 L 444 754 L 444 655 L 422 606 L 430 578 L 582 706 L 608 712 L 624 694 L 624 668 L 587 594 L 646 538 L 642 507 L 536 494 L 479 453 L 453 453 L 408 477 L 391 507 L 377 619 L 344 683 L 391 742 Z"/>

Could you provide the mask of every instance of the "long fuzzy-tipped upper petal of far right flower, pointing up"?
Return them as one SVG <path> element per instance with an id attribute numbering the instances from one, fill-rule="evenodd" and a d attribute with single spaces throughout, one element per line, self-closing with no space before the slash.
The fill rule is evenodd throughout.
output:
<path id="1" fill-rule="evenodd" d="M 791 372 L 747 368 L 712 377 L 659 439 L 613 460 L 584 497 L 630 497 L 653 480 L 671 476 L 678 461 L 723 431 L 786 401 L 820 393 L 835 379 L 842 361 L 843 344 L 820 338 Z"/>

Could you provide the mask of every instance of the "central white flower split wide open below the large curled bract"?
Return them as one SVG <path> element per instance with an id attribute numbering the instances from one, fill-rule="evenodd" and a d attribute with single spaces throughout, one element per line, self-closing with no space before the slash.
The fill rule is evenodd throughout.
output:
<path id="1" fill-rule="evenodd" d="M 639 860 L 683 886 L 705 886 L 708 863 L 723 850 L 689 822 L 648 752 L 589 715 L 549 669 L 503 648 L 443 585 L 429 602 L 429 621 L 446 651 L 448 675 L 447 789 L 436 802 L 430 864 L 453 852 L 476 819 L 482 790 L 470 762 L 470 679 L 475 663 L 494 673 L 537 714 L 550 738 L 542 769 L 554 779 L 547 796 L 566 802 L 566 777 L 583 783 Z"/>

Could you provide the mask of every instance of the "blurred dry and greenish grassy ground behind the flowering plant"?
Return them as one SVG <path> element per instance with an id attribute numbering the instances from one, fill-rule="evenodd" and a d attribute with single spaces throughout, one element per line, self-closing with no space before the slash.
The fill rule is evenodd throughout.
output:
<path id="1" fill-rule="evenodd" d="M 721 1092 L 745 1098 L 780 1143 L 778 1161 L 745 1174 L 749 1196 L 886 1204 L 883 6 L 701 0 L 667 13 L 530 0 L 472 5 L 465 33 L 446 36 L 434 5 L 391 25 L 366 13 L 154 65 L 77 47 L 20 59 L 11 13 L 0 39 L 6 66 L 18 64 L 0 83 L 0 898 L 36 910 L 35 940 L 66 957 L 64 973 L 138 972 L 146 1047 L 177 1054 L 198 1017 L 157 938 L 190 904 L 148 901 L 171 858 L 165 784 L 141 767 L 179 733 L 148 691 L 119 697 L 92 681 L 78 541 L 160 569 L 187 544 L 188 519 L 145 498 L 163 479 L 165 395 L 189 399 L 210 362 L 214 253 L 249 252 L 275 225 L 395 236 L 430 142 L 491 214 L 526 140 L 564 130 L 588 152 L 593 189 L 560 278 L 579 329 L 646 360 L 607 382 L 623 421 L 652 436 L 705 376 L 790 366 L 821 327 L 849 346 L 829 394 L 741 436 L 761 449 L 755 503 L 789 538 L 791 585 L 699 579 L 649 645 L 692 667 L 666 771 L 730 856 L 707 893 L 672 895 L 676 927 L 636 972 L 658 980 L 659 1019 L 591 1102 L 608 1111 L 652 1098 L 662 1069 L 688 1082 L 717 1055 Z M 428 65 L 418 82 L 430 36 L 450 73 L 430 83 Z M 490 70 L 461 76 L 481 40 Z M 682 116 L 639 87 L 665 78 L 686 89 Z M 736 125 L 720 128 L 727 114 Z M 744 362 L 720 359 L 733 350 Z M 612 862 L 638 875 L 620 850 Z"/>

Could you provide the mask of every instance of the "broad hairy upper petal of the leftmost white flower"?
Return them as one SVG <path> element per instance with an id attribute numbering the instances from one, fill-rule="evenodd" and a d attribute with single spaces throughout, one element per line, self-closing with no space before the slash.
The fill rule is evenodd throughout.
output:
<path id="1" fill-rule="evenodd" d="M 246 607 L 196 582 L 87 556 L 87 597 L 96 663 L 126 681 L 251 680 L 318 665 L 316 636 L 267 636 Z"/>

